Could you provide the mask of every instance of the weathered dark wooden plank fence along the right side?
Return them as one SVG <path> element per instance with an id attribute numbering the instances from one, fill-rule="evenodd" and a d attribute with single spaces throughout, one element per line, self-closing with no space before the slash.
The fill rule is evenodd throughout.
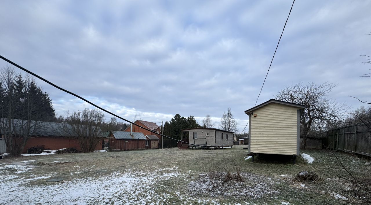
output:
<path id="1" fill-rule="evenodd" d="M 371 157 L 371 123 L 352 124 L 316 134 L 333 150 Z"/>

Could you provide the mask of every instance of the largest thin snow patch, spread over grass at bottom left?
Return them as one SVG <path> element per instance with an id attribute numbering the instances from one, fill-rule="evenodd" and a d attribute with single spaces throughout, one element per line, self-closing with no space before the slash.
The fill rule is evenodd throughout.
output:
<path id="1" fill-rule="evenodd" d="M 6 167 L 6 166 L 4 166 Z M 24 169 L 25 166 L 11 165 L 8 168 Z M 3 168 L 3 167 L 2 167 Z M 76 178 L 63 182 L 46 182 L 44 185 L 30 185 L 33 180 L 44 180 L 50 176 L 36 176 L 24 180 L 0 176 L 0 198 L 4 204 L 147 204 L 148 202 L 166 201 L 166 196 L 157 194 L 155 187 L 161 181 L 180 178 L 178 172 L 116 171 L 110 175 Z M 2 174 L 0 174 L 2 175 Z M 12 178 L 12 180 L 10 180 Z M 98 181 L 97 181 L 98 180 Z M 178 180 L 178 179 L 177 179 Z M 32 194 L 30 194 L 32 190 Z"/>

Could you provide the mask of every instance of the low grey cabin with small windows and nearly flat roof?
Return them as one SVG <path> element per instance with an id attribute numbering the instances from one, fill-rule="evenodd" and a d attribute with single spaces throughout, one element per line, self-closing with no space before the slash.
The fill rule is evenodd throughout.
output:
<path id="1" fill-rule="evenodd" d="M 233 145 L 233 133 L 215 128 L 189 128 L 181 130 L 181 141 L 200 146 L 229 147 Z M 185 148 L 189 147 L 187 143 L 182 145 Z"/>

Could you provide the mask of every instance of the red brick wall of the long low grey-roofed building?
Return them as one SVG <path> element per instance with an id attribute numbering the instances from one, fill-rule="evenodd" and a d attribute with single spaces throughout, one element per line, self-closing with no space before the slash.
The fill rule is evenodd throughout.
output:
<path id="1" fill-rule="evenodd" d="M 52 136 L 43 136 L 43 137 L 32 137 L 27 140 L 26 146 L 24 146 L 22 153 L 27 153 L 27 149 L 30 147 L 44 146 L 45 149 L 59 150 L 62 148 L 75 147 L 78 150 L 81 150 L 80 144 L 77 140 L 71 139 L 69 137 L 52 137 Z M 102 142 L 98 143 L 95 147 L 95 150 L 102 150 Z"/>

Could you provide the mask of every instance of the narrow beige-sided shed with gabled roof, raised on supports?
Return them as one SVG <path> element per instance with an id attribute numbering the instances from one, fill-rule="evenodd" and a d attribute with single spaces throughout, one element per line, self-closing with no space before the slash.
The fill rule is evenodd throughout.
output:
<path id="1" fill-rule="evenodd" d="M 299 155 L 300 117 L 304 106 L 270 99 L 249 115 L 249 152 Z"/>

